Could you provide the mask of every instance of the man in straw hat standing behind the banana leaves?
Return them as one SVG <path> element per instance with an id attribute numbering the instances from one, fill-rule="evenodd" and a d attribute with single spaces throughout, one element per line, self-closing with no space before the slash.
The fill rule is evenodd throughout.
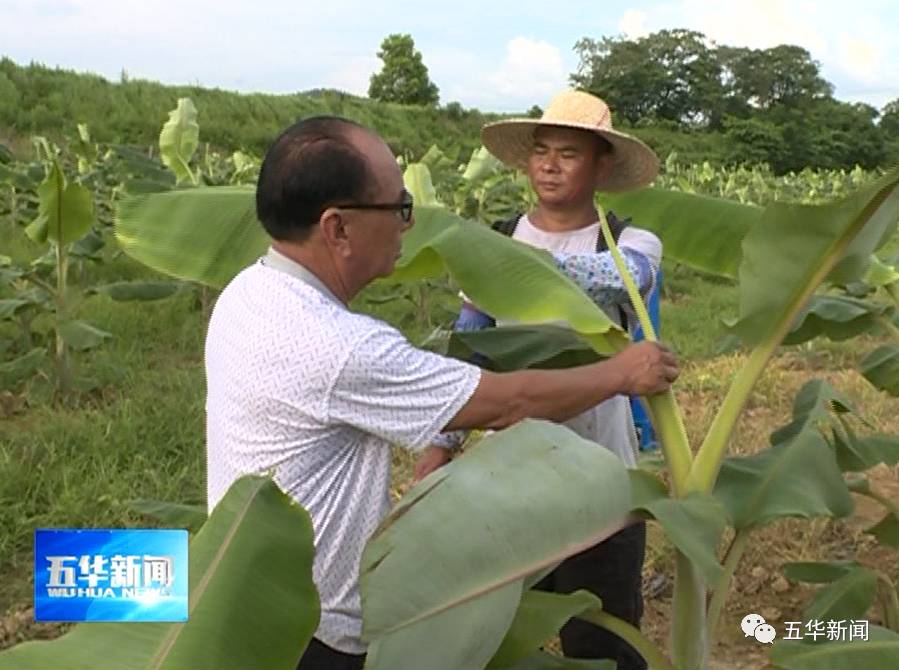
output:
<path id="1" fill-rule="evenodd" d="M 571 277 L 613 320 L 636 326 L 623 281 L 605 246 L 595 205 L 597 191 L 627 191 L 649 184 L 658 159 L 638 139 L 612 128 L 608 106 L 578 91 L 556 96 L 540 119 L 512 119 L 486 125 L 481 136 L 490 152 L 510 167 L 526 171 L 537 194 L 537 207 L 494 228 L 553 253 L 558 267 Z M 652 233 L 622 223 L 610 212 L 613 234 L 631 275 L 645 297 L 655 284 L 662 247 Z M 500 279 L 501 281 L 501 279 Z M 477 330 L 493 320 L 463 303 L 457 330 Z M 637 439 L 627 396 L 619 395 L 565 425 L 582 437 L 636 465 Z M 458 434 L 441 436 L 418 465 L 423 476 L 445 461 L 447 443 Z M 641 570 L 646 526 L 624 529 L 605 542 L 570 557 L 537 588 L 568 593 L 588 589 L 603 608 L 634 625 L 643 610 Z M 561 631 L 562 648 L 574 658 L 612 658 L 619 670 L 645 668 L 643 659 L 617 636 L 573 619 Z"/>

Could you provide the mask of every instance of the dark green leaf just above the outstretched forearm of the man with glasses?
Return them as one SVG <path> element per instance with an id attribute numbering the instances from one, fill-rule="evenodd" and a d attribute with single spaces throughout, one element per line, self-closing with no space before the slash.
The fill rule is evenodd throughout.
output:
<path id="1" fill-rule="evenodd" d="M 476 353 L 489 360 L 491 370 L 504 372 L 570 368 L 599 360 L 589 344 L 561 326 L 501 326 L 450 336 L 447 355 L 471 360 Z"/>

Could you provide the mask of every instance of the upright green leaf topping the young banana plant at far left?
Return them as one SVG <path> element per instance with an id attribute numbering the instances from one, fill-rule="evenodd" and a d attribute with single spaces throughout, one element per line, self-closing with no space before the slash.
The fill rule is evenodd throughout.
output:
<path id="1" fill-rule="evenodd" d="M 44 243 L 49 239 L 60 245 L 71 244 L 84 237 L 94 225 L 90 191 L 81 184 L 67 182 L 57 161 L 53 161 L 37 192 L 38 216 L 25 229 L 35 242 Z"/>

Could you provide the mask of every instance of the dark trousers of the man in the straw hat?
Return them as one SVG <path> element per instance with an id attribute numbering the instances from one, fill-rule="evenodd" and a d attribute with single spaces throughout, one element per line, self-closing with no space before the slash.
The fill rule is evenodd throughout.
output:
<path id="1" fill-rule="evenodd" d="M 586 589 L 602 599 L 604 611 L 639 628 L 645 553 L 646 523 L 634 524 L 567 558 L 534 588 L 555 593 Z M 646 662 L 627 642 L 581 619 L 571 619 L 559 636 L 569 658 L 611 658 L 618 670 L 646 669 Z"/>

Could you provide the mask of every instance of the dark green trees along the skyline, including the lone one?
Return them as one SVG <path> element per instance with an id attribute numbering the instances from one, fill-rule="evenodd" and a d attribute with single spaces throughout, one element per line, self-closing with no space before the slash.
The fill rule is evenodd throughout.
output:
<path id="1" fill-rule="evenodd" d="M 767 163 L 778 174 L 899 162 L 899 98 L 883 110 L 836 100 L 802 47 L 717 46 L 676 29 L 638 39 L 584 37 L 574 50 L 580 62 L 571 83 L 605 99 L 663 157 L 677 150 L 688 162 Z M 372 75 L 371 98 L 437 103 L 411 35 L 389 35 L 378 57 L 383 67 Z"/>

